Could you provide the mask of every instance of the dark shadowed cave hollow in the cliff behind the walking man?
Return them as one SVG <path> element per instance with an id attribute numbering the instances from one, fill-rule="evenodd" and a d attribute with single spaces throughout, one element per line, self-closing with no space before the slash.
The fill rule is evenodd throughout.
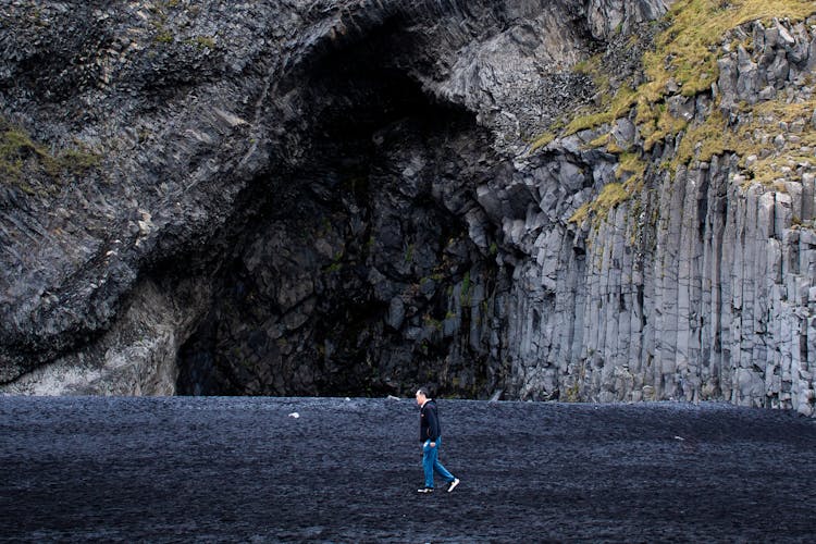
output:
<path id="1" fill-rule="evenodd" d="M 180 353 L 178 394 L 495 387 L 498 271 L 463 219 L 492 168 L 487 134 L 471 112 L 423 94 L 405 65 L 410 41 L 393 30 L 298 72 L 302 114 L 283 166 L 247 199 L 257 211 Z"/>

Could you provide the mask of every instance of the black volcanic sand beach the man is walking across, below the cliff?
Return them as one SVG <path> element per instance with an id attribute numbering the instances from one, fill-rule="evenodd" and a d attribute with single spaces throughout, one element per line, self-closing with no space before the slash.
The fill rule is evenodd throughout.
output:
<path id="1" fill-rule="evenodd" d="M 412 399 L 0 397 L 0 541 L 815 537 L 813 420 L 684 404 L 440 410 L 442 460 L 462 483 L 422 496 Z"/>

